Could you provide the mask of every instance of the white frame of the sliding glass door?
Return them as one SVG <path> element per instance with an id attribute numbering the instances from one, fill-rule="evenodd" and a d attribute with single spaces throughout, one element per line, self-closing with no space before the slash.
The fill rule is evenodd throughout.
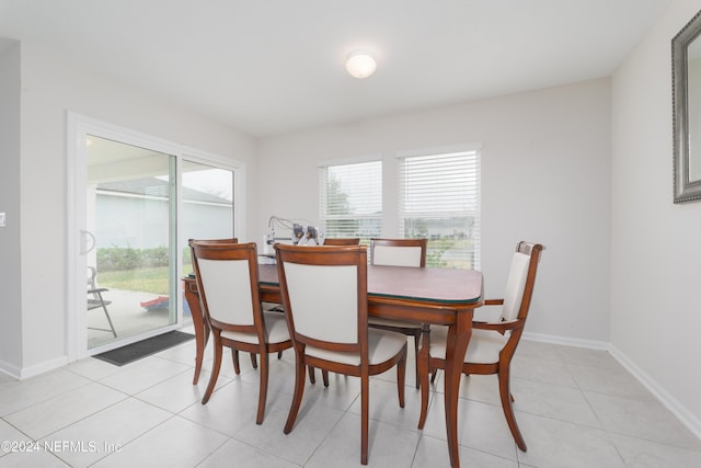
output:
<path id="1" fill-rule="evenodd" d="M 158 335 L 170 330 L 175 330 L 183 324 L 183 290 L 174 287 L 177 304 L 176 321 L 171 326 L 151 330 L 143 334 L 116 340 L 102 346 L 88 349 L 88 317 L 85 312 L 85 269 L 87 255 L 87 196 L 85 190 L 87 151 L 85 140 L 88 135 L 95 135 L 102 138 L 147 148 L 153 151 L 163 152 L 175 158 L 176 199 L 175 209 L 175 232 L 171 232 L 171 251 L 175 252 L 175 258 L 180 255 L 180 246 L 186 239 L 182 238 L 181 216 L 182 213 L 182 162 L 183 160 L 199 162 L 203 164 L 230 170 L 233 173 L 233 236 L 241 237 L 244 232 L 243 220 L 243 194 L 245 193 L 245 165 L 235 160 L 226 159 L 217 155 L 208 153 L 195 148 L 189 148 L 180 144 L 157 138 L 129 128 L 108 124 L 85 115 L 73 112 L 67 113 L 67 195 L 68 195 L 68 222 L 66 233 L 67 253 L 67 320 L 66 320 L 66 350 L 68 362 L 88 357 L 97 353 L 110 351 L 125 344 L 134 343 L 146 338 Z M 183 277 L 183 267 L 180 259 L 175 263 L 175 276 L 171 282 L 177 283 Z"/>

